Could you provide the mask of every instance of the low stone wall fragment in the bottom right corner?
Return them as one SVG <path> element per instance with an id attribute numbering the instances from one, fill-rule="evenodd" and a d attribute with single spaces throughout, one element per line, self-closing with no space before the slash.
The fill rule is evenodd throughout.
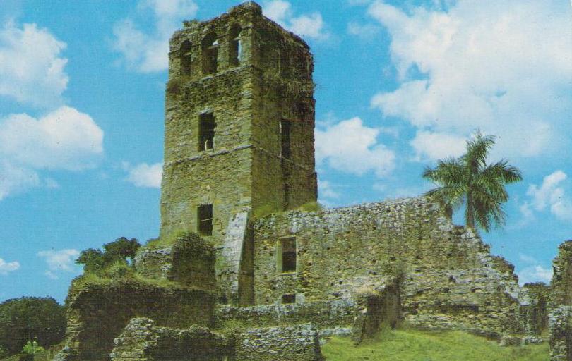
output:
<path id="1" fill-rule="evenodd" d="M 560 306 L 549 314 L 550 360 L 572 361 L 572 305 Z"/>

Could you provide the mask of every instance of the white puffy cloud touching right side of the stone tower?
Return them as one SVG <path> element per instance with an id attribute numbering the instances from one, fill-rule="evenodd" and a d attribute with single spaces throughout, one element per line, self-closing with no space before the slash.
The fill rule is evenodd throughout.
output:
<path id="1" fill-rule="evenodd" d="M 358 176 L 367 171 L 387 176 L 395 166 L 395 153 L 377 142 L 379 133 L 357 117 L 316 129 L 316 162 Z"/>

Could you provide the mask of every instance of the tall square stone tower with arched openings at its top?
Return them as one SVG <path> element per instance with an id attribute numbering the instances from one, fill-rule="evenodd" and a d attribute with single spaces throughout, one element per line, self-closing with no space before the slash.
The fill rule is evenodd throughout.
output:
<path id="1" fill-rule="evenodd" d="M 161 235 L 221 246 L 239 213 L 316 201 L 314 63 L 252 2 L 184 23 L 169 50 Z"/>

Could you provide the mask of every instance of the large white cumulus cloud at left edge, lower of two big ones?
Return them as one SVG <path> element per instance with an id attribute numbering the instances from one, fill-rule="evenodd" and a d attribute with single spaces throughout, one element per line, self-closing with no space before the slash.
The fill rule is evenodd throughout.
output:
<path id="1" fill-rule="evenodd" d="M 0 200 L 28 188 L 55 188 L 40 169 L 77 171 L 95 166 L 103 152 L 103 131 L 88 114 L 61 106 L 40 118 L 0 118 Z"/>

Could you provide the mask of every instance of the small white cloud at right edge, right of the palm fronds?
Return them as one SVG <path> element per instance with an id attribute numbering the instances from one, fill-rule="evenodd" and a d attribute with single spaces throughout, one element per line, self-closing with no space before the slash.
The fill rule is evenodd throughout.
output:
<path id="1" fill-rule="evenodd" d="M 537 211 L 544 211 L 548 208 L 556 218 L 572 221 L 572 202 L 566 197 L 564 188 L 561 187 L 561 183 L 566 181 L 566 178 L 568 178 L 566 173 L 558 170 L 545 176 L 540 187 L 531 184 L 526 192 L 526 195 L 531 198 L 530 206 Z M 527 204 L 524 211 L 530 212 L 530 206 Z M 520 210 L 523 212 L 522 207 Z"/>

